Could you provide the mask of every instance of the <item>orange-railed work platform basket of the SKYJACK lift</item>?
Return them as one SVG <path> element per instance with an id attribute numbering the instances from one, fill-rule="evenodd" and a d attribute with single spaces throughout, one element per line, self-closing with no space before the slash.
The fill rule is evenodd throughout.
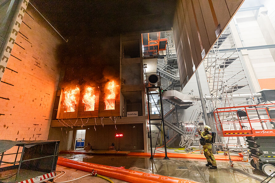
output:
<path id="1" fill-rule="evenodd" d="M 275 104 L 217 108 L 214 116 L 218 135 L 222 137 L 275 136 L 271 126 L 275 122 Z"/>

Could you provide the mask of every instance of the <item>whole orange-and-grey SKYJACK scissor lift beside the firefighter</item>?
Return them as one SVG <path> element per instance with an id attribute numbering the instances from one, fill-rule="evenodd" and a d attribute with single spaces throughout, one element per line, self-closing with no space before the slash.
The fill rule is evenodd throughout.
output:
<path id="1" fill-rule="evenodd" d="M 214 110 L 218 135 L 246 137 L 250 149 L 249 157 L 252 157 L 250 164 L 268 176 L 274 176 L 275 171 L 275 129 L 272 127 L 275 118 L 272 118 L 273 115 L 270 117 L 274 109 L 275 104 L 259 104 Z M 228 125 L 233 125 L 234 130 L 226 130 Z M 229 162 L 233 166 L 232 161 Z"/>

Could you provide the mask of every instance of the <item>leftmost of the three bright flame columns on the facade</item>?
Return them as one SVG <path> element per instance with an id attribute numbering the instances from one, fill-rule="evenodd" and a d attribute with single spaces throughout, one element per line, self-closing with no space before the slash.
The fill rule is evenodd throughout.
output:
<path id="1" fill-rule="evenodd" d="M 76 87 L 74 90 L 66 90 L 64 91 L 65 99 L 64 99 L 64 107 L 65 112 L 75 112 L 77 98 L 76 95 L 79 93 L 79 88 Z"/>

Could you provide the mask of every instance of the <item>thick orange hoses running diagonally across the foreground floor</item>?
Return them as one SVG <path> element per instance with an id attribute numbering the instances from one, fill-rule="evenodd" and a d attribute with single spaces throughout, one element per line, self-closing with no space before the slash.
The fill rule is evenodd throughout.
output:
<path id="1" fill-rule="evenodd" d="M 58 165 L 67 166 L 74 169 L 83 170 L 86 172 L 92 172 L 95 170 L 98 174 L 112 177 L 115 179 L 127 181 L 127 182 L 144 182 L 144 183 L 197 183 L 195 181 L 189 181 L 185 179 L 179 179 L 174 177 L 167 177 L 158 174 L 145 173 L 139 171 L 133 171 L 130 169 L 117 168 L 107 165 L 99 165 L 94 163 L 87 163 L 82 161 L 74 161 L 66 158 L 59 157 L 57 161 Z"/>

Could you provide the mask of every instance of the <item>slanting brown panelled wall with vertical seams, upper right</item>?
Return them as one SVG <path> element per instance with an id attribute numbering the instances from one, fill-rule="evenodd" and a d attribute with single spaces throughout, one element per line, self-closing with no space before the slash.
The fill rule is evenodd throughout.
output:
<path id="1" fill-rule="evenodd" d="M 182 88 L 242 2 L 243 0 L 178 1 L 173 33 Z"/>

